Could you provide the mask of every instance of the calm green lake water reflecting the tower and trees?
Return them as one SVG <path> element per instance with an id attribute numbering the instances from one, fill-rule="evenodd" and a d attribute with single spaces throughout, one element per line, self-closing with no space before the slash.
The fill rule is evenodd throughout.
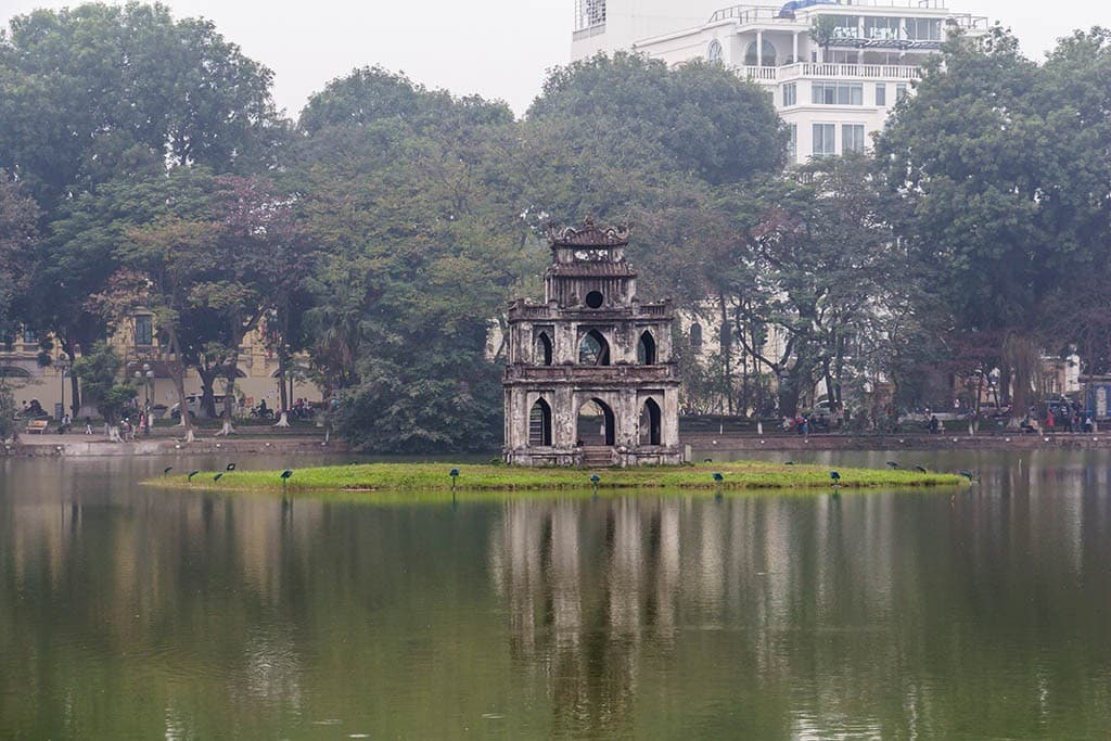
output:
<path id="1" fill-rule="evenodd" d="M 980 482 L 407 504 L 4 461 L 0 738 L 1108 738 L 1111 455 L 791 455 Z"/>

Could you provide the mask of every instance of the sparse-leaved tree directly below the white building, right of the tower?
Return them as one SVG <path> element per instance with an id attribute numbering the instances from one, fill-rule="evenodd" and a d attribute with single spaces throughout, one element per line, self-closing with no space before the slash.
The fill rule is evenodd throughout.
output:
<path id="1" fill-rule="evenodd" d="M 875 348 L 899 316 L 905 271 L 884 197 L 872 163 L 851 156 L 732 201 L 741 239 L 708 280 L 730 334 L 778 379 L 781 414 L 797 413 L 819 380 L 837 408 L 849 379 L 879 370 Z"/>

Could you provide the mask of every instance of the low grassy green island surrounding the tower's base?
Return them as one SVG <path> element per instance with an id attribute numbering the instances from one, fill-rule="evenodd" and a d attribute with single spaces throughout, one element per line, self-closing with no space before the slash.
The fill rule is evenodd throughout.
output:
<path id="1" fill-rule="evenodd" d="M 517 468 L 451 463 L 366 463 L 294 469 L 287 479 L 281 471 L 201 471 L 192 479 L 168 475 L 150 484 L 214 491 L 309 492 L 406 492 L 450 491 L 450 471 L 458 470 L 460 492 L 589 490 L 591 475 L 598 488 L 687 489 L 687 490 L 829 490 L 830 469 L 821 465 L 788 465 L 763 461 L 699 463 L 680 467 L 635 469 Z M 904 470 L 838 468 L 841 489 L 907 487 L 952 487 L 965 480 L 952 473 L 922 473 Z M 714 479 L 721 474 L 721 481 Z M 217 479 L 217 475 L 219 478 Z"/>

